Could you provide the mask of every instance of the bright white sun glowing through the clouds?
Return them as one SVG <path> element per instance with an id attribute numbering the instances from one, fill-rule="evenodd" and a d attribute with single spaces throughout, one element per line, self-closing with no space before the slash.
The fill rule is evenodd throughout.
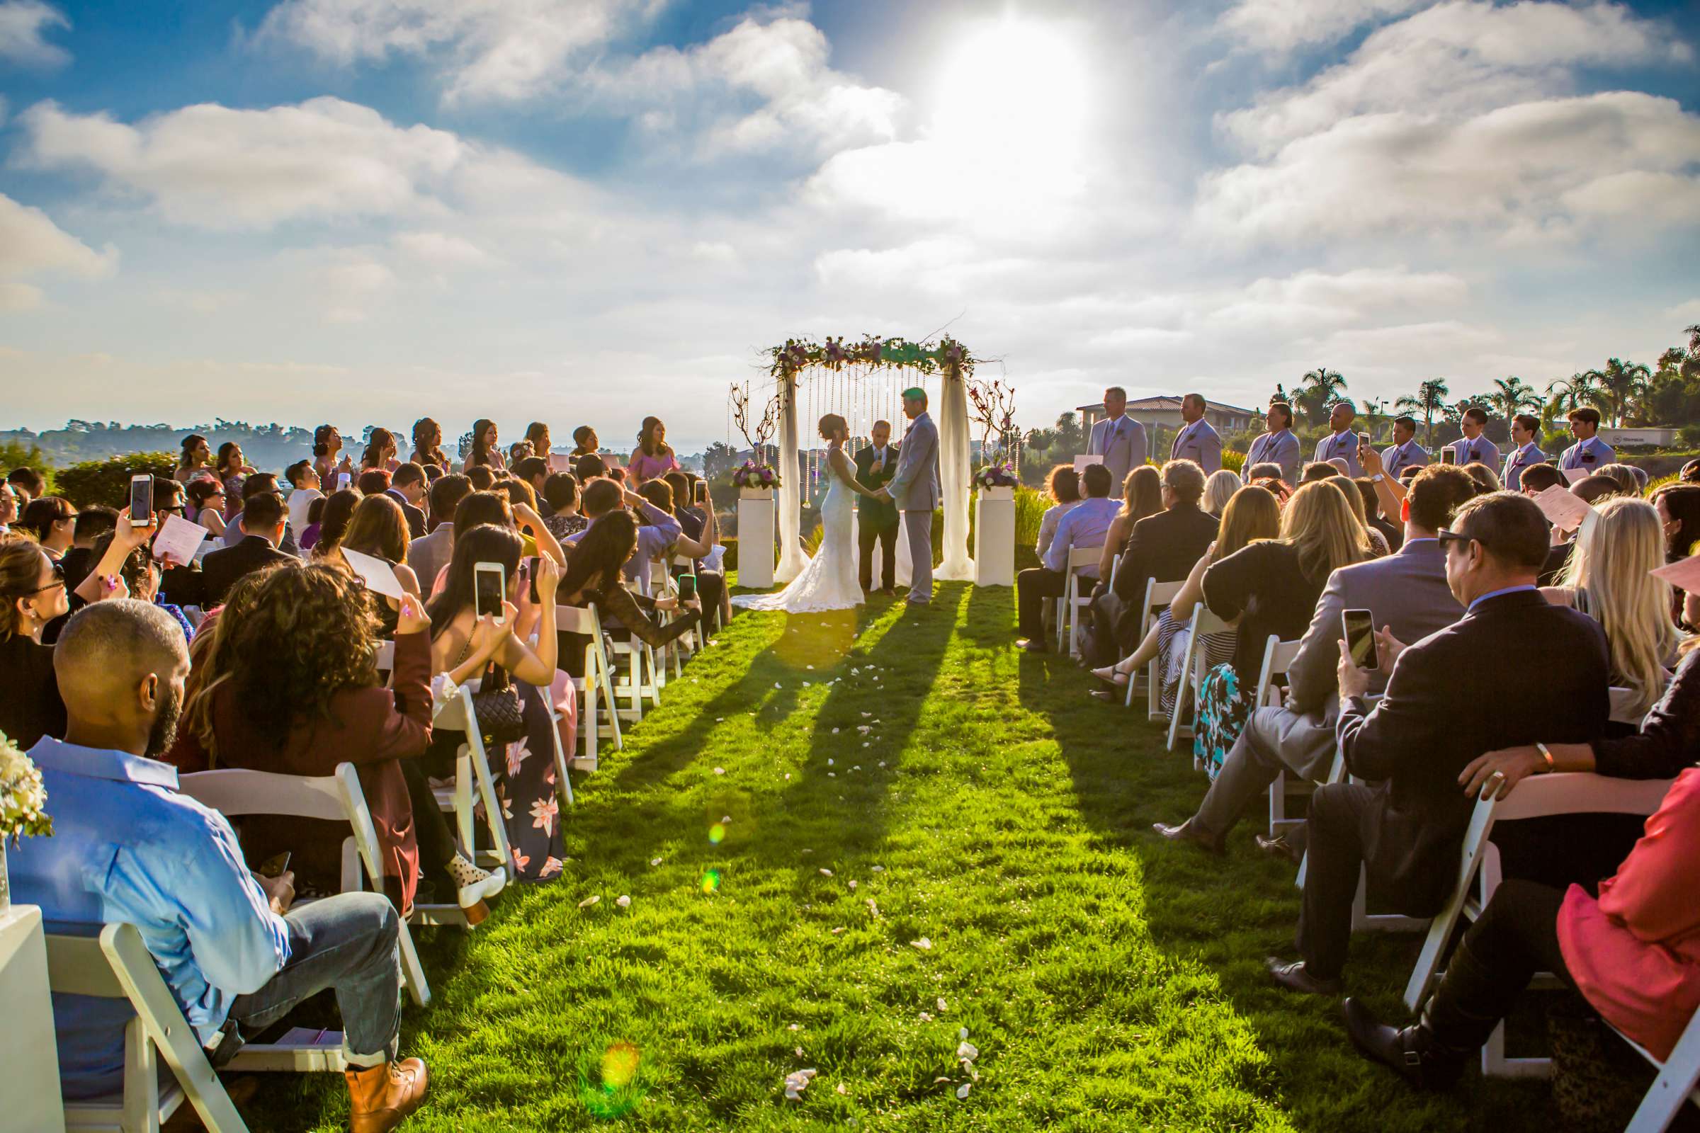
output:
<path id="1" fill-rule="evenodd" d="M 944 65 L 932 139 L 983 158 L 1066 158 L 1083 136 L 1086 87 L 1086 59 L 1056 25 L 984 24 Z"/>

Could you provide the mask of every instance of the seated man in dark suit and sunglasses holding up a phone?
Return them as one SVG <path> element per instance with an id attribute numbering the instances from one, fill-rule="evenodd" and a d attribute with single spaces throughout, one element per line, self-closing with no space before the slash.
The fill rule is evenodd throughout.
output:
<path id="1" fill-rule="evenodd" d="M 1428 917 L 1447 902 L 1476 805 L 1459 786 L 1472 759 L 1535 741 L 1590 742 L 1605 729 L 1605 634 L 1535 589 L 1547 557 L 1535 501 L 1508 491 L 1476 496 L 1440 532 L 1440 545 L 1465 613 L 1411 647 L 1382 635 L 1380 664 L 1392 676 L 1374 712 L 1363 703 L 1370 674 L 1341 642 L 1340 749 L 1352 775 L 1375 785 L 1329 783 L 1311 800 L 1302 960 L 1268 961 L 1290 990 L 1340 992 L 1360 866 L 1397 912 Z M 1506 642 L 1559 664 L 1504 664 Z"/>

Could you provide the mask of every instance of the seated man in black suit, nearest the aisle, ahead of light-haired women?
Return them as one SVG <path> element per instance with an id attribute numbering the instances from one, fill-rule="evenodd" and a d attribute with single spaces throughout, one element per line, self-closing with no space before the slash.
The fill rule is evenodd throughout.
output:
<path id="1" fill-rule="evenodd" d="M 1115 657 L 1108 654 L 1115 649 L 1132 652 L 1139 645 L 1139 603 L 1146 600 L 1146 583 L 1180 583 L 1216 542 L 1221 521 L 1198 508 L 1202 498 L 1204 469 L 1197 462 L 1163 465 L 1163 511 L 1134 523 L 1108 589 L 1093 595 L 1088 664 L 1110 664 Z"/>

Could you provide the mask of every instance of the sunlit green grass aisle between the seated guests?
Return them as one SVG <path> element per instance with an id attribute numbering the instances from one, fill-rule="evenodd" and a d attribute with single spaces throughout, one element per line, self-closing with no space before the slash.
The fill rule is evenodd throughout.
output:
<path id="1" fill-rule="evenodd" d="M 1255 820 L 1226 861 L 1156 839 L 1204 795 L 1190 756 L 1012 639 L 1013 593 L 966 584 L 921 615 L 741 615 L 580 780 L 561 880 L 420 934 L 406 1128 L 1557 1128 L 1542 1084 L 1413 1094 L 1334 1004 L 1266 984 L 1292 870 Z M 1358 938 L 1348 990 L 1397 1012 L 1416 948 Z M 330 1075 L 246 1111 L 347 1121 Z"/>

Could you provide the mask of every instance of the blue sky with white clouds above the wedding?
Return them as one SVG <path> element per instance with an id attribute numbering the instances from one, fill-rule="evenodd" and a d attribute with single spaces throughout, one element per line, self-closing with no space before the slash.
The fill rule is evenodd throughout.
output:
<path id="1" fill-rule="evenodd" d="M 695 448 L 762 347 L 945 323 L 1030 425 L 1652 362 L 1700 321 L 1685 10 L 0 0 L 0 426 Z"/>

